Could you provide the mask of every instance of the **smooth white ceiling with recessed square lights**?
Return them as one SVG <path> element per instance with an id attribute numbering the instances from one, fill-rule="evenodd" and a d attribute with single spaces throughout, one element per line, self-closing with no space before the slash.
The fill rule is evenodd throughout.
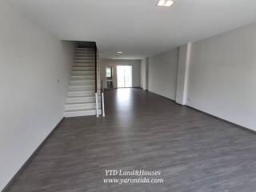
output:
<path id="1" fill-rule="evenodd" d="M 176 0 L 170 8 L 158 0 L 10 2 L 62 40 L 96 41 L 102 58 L 144 58 L 256 22 L 255 0 Z"/>

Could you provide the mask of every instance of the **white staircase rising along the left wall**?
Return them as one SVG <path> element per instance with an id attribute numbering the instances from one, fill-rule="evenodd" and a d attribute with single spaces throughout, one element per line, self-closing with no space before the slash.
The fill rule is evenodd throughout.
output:
<path id="1" fill-rule="evenodd" d="M 76 50 L 66 98 L 65 117 L 96 114 L 95 51 L 94 48 L 77 48 Z M 101 114 L 100 99 L 100 92 L 98 92 L 99 114 Z"/>

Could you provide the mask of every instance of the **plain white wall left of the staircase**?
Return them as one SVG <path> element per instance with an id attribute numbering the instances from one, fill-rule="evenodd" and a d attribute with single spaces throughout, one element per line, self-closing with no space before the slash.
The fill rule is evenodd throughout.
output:
<path id="1" fill-rule="evenodd" d="M 0 1 L 0 190 L 63 117 L 74 44 Z M 59 79 L 59 82 L 58 82 Z"/>

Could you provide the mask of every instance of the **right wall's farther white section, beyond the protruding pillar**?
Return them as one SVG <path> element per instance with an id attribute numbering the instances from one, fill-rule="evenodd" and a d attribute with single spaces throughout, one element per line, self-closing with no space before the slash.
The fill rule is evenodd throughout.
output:
<path id="1" fill-rule="evenodd" d="M 150 57 L 148 67 L 148 90 L 175 100 L 178 49 Z"/>

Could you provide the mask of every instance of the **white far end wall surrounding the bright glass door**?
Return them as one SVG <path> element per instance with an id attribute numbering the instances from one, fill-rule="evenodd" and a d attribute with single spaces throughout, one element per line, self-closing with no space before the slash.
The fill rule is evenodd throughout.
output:
<path id="1" fill-rule="evenodd" d="M 100 59 L 101 78 L 103 88 L 106 88 L 106 66 L 112 66 L 114 88 L 118 87 L 117 82 L 117 66 L 132 66 L 132 83 L 133 87 L 140 87 L 140 60 L 125 60 L 125 59 Z"/>

